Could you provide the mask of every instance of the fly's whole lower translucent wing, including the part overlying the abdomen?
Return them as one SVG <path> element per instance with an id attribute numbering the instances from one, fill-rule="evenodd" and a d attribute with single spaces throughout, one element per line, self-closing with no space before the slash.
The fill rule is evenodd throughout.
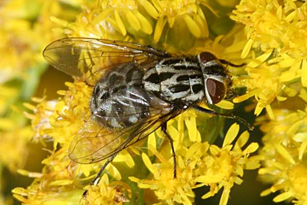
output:
<path id="1" fill-rule="evenodd" d="M 165 101 L 142 88 L 129 87 L 110 96 L 71 142 L 69 156 L 78 163 L 93 163 L 134 144 L 178 115 Z M 117 127 L 106 129 L 102 126 Z"/>

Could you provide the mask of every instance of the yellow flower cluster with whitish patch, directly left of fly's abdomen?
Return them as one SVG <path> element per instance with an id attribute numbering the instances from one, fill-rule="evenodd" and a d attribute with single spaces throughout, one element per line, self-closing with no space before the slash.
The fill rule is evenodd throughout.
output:
<path id="1" fill-rule="evenodd" d="M 44 98 L 32 98 L 36 106 L 25 104 L 33 111 L 25 113 L 32 120 L 32 128 L 36 132 L 34 139 L 52 137 L 57 143 L 68 149 L 72 136 L 74 136 L 84 120 L 90 116 L 88 102 L 90 100 L 92 89 L 85 83 L 76 82 L 75 84 L 66 83 L 68 91 L 58 91 L 63 98 L 60 100 L 46 100 Z"/>

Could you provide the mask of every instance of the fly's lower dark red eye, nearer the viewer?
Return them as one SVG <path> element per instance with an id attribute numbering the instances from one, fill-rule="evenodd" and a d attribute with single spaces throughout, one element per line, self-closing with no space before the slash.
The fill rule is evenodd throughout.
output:
<path id="1" fill-rule="evenodd" d="M 218 80 L 209 78 L 206 82 L 207 91 L 212 100 L 212 104 L 217 104 L 224 99 L 226 89 L 225 85 Z"/>

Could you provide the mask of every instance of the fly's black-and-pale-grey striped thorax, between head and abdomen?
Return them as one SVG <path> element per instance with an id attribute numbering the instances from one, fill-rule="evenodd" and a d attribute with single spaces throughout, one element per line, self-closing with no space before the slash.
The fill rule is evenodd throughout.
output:
<path id="1" fill-rule="evenodd" d="M 147 91 L 167 101 L 198 103 L 205 95 L 203 74 L 196 58 L 165 58 L 148 69 L 142 81 Z"/>

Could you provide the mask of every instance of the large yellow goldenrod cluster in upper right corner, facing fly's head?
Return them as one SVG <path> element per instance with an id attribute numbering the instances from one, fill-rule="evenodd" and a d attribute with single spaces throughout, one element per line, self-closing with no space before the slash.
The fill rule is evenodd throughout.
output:
<path id="1" fill-rule="evenodd" d="M 239 78 L 248 93 L 234 101 L 255 96 L 259 115 L 266 108 L 274 119 L 271 104 L 295 96 L 307 85 L 306 3 L 286 0 L 241 1 L 232 19 L 246 25 L 247 40 L 241 57 L 252 59 L 247 65 L 248 77 Z"/>

